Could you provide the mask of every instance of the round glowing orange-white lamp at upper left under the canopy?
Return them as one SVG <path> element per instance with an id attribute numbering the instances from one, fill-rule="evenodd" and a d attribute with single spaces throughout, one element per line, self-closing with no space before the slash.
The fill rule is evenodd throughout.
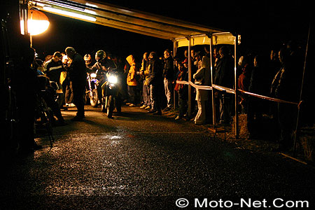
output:
<path id="1" fill-rule="evenodd" d="M 31 36 L 35 36 L 43 33 L 49 27 L 49 20 L 47 16 L 37 10 L 29 10 L 28 20 L 27 20 L 27 31 Z M 24 20 L 20 21 L 21 34 L 24 34 Z"/>

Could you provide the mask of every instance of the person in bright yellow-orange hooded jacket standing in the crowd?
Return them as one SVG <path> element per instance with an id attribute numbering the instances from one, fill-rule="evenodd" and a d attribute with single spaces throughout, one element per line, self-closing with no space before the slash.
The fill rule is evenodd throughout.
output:
<path id="1" fill-rule="evenodd" d="M 137 71 L 136 71 L 136 62 L 134 61 L 134 56 L 129 55 L 126 58 L 128 64 L 130 65 L 130 69 L 128 71 L 127 76 L 127 85 L 128 85 L 128 97 L 130 102 L 130 107 L 136 106 L 136 91 L 137 91 Z"/>

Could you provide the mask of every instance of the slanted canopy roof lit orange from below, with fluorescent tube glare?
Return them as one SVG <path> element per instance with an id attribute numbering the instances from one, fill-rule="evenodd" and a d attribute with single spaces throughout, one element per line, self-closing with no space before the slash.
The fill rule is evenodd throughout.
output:
<path id="1" fill-rule="evenodd" d="M 195 39 L 199 40 L 196 43 L 209 44 L 209 36 L 226 32 L 192 22 L 167 18 L 100 1 L 31 0 L 29 1 L 29 7 L 138 34 L 181 41 L 180 45 L 187 45 L 188 37 L 196 37 Z M 227 37 L 230 33 L 224 34 Z M 202 41 L 202 39 L 204 40 Z M 234 42 L 234 36 L 230 34 L 230 41 L 232 40 Z"/>

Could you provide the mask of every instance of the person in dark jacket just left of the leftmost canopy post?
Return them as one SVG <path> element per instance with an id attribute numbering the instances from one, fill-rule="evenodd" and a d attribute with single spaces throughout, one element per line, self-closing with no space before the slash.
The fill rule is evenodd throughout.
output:
<path id="1" fill-rule="evenodd" d="M 163 69 L 165 96 L 167 97 L 167 108 L 164 111 L 172 109 L 173 104 L 173 80 L 174 80 L 174 59 L 171 52 L 167 49 L 164 51 L 165 64 Z"/>

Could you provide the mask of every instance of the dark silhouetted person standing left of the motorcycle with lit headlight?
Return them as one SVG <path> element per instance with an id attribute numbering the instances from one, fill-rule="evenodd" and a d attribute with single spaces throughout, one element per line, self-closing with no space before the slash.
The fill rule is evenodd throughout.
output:
<path id="1" fill-rule="evenodd" d="M 68 69 L 69 80 L 73 90 L 73 103 L 78 109 L 76 116 L 72 118 L 73 121 L 80 121 L 85 118 L 84 116 L 84 94 L 85 94 L 85 61 L 74 48 L 66 48 L 66 55 L 71 59 Z"/>

